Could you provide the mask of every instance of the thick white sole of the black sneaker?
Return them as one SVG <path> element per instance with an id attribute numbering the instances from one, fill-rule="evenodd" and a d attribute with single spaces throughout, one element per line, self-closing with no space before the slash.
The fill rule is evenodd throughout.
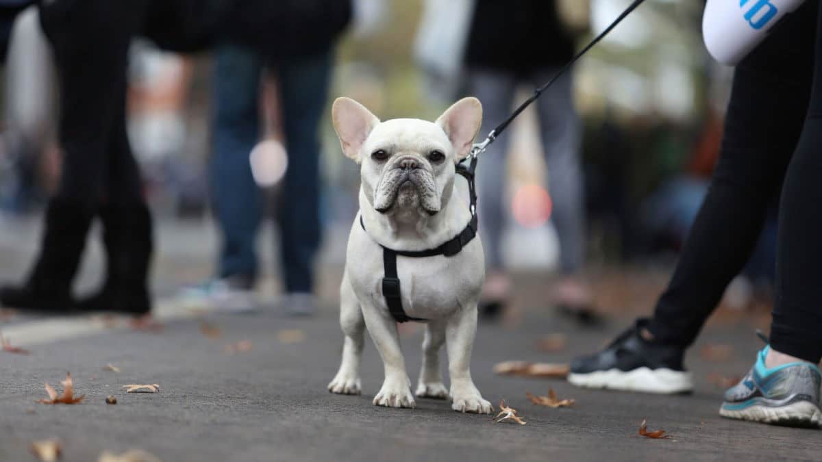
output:
<path id="1" fill-rule="evenodd" d="M 568 374 L 568 381 L 575 386 L 602 390 L 639 391 L 640 393 L 658 393 L 676 395 L 690 393 L 694 390 L 694 379 L 690 372 L 672 369 L 649 369 L 640 367 L 633 371 L 590 372 L 588 374 Z"/>

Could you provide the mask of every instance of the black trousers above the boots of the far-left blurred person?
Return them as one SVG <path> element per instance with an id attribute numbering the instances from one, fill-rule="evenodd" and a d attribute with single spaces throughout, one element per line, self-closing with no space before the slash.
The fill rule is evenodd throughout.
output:
<path id="1" fill-rule="evenodd" d="M 60 83 L 57 196 L 89 210 L 142 201 L 126 132 L 127 50 L 146 0 L 56 0 L 41 7 Z"/>

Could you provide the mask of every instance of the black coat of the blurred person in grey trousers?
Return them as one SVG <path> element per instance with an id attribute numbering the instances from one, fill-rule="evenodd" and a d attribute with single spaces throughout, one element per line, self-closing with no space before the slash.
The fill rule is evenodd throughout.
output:
<path id="1" fill-rule="evenodd" d="M 465 50 L 469 67 L 533 72 L 574 56 L 555 0 L 476 0 Z"/>

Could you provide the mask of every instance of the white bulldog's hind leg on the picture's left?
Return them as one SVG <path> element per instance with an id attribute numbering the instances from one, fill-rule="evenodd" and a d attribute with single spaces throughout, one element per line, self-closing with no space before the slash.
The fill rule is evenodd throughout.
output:
<path id="1" fill-rule="evenodd" d="M 339 363 L 339 371 L 334 380 L 328 384 L 328 390 L 342 395 L 359 395 L 362 391 L 359 363 L 363 355 L 365 320 L 347 273 L 344 273 L 343 283 L 339 288 L 339 326 L 345 334 L 343 360 Z"/>

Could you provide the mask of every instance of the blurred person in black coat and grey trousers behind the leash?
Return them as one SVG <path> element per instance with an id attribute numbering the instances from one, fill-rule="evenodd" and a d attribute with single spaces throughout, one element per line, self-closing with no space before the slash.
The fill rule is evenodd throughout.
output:
<path id="1" fill-rule="evenodd" d="M 542 85 L 569 62 L 575 35 L 587 21 L 571 24 L 560 0 L 476 0 L 464 53 L 468 90 L 483 102 L 481 134 L 491 132 L 511 111 L 520 84 Z M 580 0 L 575 7 L 587 6 Z M 584 5 L 583 5 L 584 4 Z M 587 12 L 587 7 L 583 8 Z M 586 16 L 587 19 L 587 16 Z M 553 303 L 589 320 L 591 293 L 582 277 L 585 260 L 584 183 L 580 165 L 581 122 L 574 106 L 572 75 L 566 72 L 534 104 L 538 111 L 552 220 L 560 243 L 561 278 Z M 478 167 L 480 229 L 487 248 L 483 298 L 487 314 L 504 307 L 510 279 L 503 267 L 501 238 L 506 223 L 507 134 L 488 147 Z"/>

